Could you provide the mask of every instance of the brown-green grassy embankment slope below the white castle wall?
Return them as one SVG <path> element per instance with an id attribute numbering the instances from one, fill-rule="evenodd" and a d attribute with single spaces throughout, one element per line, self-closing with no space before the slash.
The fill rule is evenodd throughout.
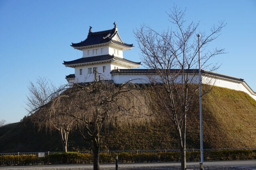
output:
<path id="1" fill-rule="evenodd" d="M 248 94 L 214 87 L 202 98 L 204 148 L 256 148 L 256 101 Z M 187 149 L 200 148 L 198 102 L 187 119 Z M 100 134 L 101 150 L 178 149 L 168 121 Z M 80 135 L 69 136 L 68 150 L 91 150 Z M 62 151 L 58 133 L 38 133 L 27 119 L 0 127 L 0 152 Z"/>

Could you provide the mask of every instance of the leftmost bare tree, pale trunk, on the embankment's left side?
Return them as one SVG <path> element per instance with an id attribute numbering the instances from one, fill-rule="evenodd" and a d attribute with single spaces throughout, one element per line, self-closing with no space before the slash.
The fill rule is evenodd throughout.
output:
<path id="1" fill-rule="evenodd" d="M 63 152 L 67 152 L 68 135 L 76 127 L 75 120 L 68 116 L 74 111 L 70 97 L 66 94 L 66 86 L 56 88 L 46 78 L 38 78 L 36 84 L 30 82 L 27 96 L 27 110 L 39 130 L 58 131 Z M 62 95 L 60 95 L 62 94 Z"/>

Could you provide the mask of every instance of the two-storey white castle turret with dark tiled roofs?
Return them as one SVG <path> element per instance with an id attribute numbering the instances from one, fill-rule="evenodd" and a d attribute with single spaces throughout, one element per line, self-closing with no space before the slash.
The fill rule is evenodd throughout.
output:
<path id="1" fill-rule="evenodd" d="M 72 43 L 71 46 L 83 51 L 83 56 L 77 60 L 64 61 L 65 66 L 75 68 L 75 74 L 66 76 L 69 83 L 93 81 L 92 74 L 96 69 L 102 78 L 111 80 L 111 70 L 130 69 L 141 65 L 140 62 L 124 59 L 123 51 L 134 46 L 122 41 L 116 22 L 113 29 L 106 31 L 92 32 L 90 26 L 87 38 L 80 43 Z"/>

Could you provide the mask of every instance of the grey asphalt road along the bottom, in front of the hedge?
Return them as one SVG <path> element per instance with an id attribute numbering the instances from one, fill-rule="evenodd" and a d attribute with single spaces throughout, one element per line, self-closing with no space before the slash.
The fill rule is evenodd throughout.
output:
<path id="1" fill-rule="evenodd" d="M 31 166 L 0 166 L 0 170 L 36 169 L 36 170 L 90 170 L 92 164 L 52 164 Z M 180 162 L 155 162 L 155 163 L 119 163 L 119 170 L 178 170 Z M 103 170 L 115 170 L 115 164 L 100 164 Z M 199 169 L 199 162 L 187 162 L 187 169 Z M 228 160 L 206 161 L 204 169 L 215 170 L 256 170 L 256 160 Z"/>

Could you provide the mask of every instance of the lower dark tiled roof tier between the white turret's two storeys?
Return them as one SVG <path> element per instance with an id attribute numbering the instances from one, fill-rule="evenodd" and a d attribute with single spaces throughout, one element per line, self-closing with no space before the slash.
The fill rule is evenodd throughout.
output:
<path id="1" fill-rule="evenodd" d="M 117 60 L 117 61 L 121 61 L 124 63 L 129 63 L 129 64 L 134 64 L 134 65 L 141 65 L 140 62 L 134 62 L 134 61 L 130 61 L 124 58 L 120 58 L 120 57 L 114 57 L 114 55 L 99 55 L 99 56 L 94 56 L 94 57 L 84 57 L 84 58 L 80 58 L 80 59 L 76 59 L 73 61 L 64 61 L 64 65 L 72 65 L 72 64 L 82 64 L 82 63 L 90 63 L 90 62 L 94 62 L 94 61 L 108 61 L 108 60 Z"/>

